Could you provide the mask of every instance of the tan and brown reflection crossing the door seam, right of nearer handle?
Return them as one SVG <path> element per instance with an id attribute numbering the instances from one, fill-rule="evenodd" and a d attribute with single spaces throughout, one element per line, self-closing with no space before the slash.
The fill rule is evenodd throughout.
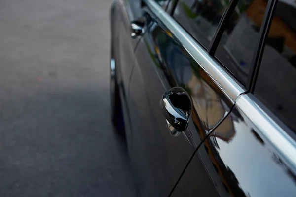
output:
<path id="1" fill-rule="evenodd" d="M 197 128 L 198 134 L 202 139 L 206 138 L 211 125 L 217 124 L 219 120 L 225 115 L 225 107 L 223 100 L 217 93 L 220 92 L 216 84 L 209 78 L 209 76 L 200 68 L 195 69 L 194 74 L 187 83 L 187 89 L 190 90 L 190 95 L 194 109 L 192 110 L 192 120 Z M 211 117 L 210 119 L 208 117 Z M 216 137 L 221 138 L 226 142 L 230 142 L 235 135 L 233 126 L 233 117 L 225 119 L 221 125 L 213 132 L 208 140 L 205 140 L 204 147 L 207 152 L 206 157 L 210 159 L 213 169 L 207 169 L 209 173 L 215 173 L 219 178 L 215 181 L 216 187 L 223 194 L 223 196 L 245 196 L 242 189 L 238 186 L 238 181 L 235 174 L 225 166 L 217 152 L 218 144 Z M 202 127 L 209 125 L 210 128 Z M 208 165 L 209 166 L 209 165 Z M 212 174 L 213 175 L 213 174 Z"/>

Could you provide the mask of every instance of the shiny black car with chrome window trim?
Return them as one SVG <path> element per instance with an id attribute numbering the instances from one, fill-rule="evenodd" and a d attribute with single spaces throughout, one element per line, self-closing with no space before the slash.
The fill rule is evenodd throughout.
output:
<path id="1" fill-rule="evenodd" d="M 112 121 L 139 196 L 296 196 L 296 3 L 114 0 Z"/>

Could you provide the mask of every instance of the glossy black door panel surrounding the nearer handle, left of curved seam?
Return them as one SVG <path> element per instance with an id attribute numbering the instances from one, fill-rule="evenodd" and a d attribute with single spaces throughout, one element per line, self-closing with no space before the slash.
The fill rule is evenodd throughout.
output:
<path id="1" fill-rule="evenodd" d="M 135 50 L 127 95 L 131 130 L 126 133 L 142 195 L 157 197 L 169 195 L 201 140 L 233 104 L 172 33 L 151 17 L 154 22 Z M 190 95 L 192 114 L 188 129 L 172 136 L 159 101 L 176 86 Z"/>

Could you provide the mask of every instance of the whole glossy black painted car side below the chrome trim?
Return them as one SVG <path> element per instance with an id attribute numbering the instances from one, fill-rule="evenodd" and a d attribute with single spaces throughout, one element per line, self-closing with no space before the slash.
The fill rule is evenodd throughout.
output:
<path id="1" fill-rule="evenodd" d="M 116 81 L 140 195 L 295 196 L 295 172 L 174 34 L 141 0 L 116 0 L 114 7 Z M 130 25 L 143 16 L 149 20 L 134 37 Z M 159 101 L 174 87 L 184 90 L 190 110 L 185 104 L 180 111 L 185 131 L 171 133 L 178 120 L 166 121 L 172 113 Z"/>

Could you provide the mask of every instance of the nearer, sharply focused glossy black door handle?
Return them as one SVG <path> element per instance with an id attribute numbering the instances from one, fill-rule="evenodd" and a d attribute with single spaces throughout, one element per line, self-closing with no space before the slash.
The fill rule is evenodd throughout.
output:
<path id="1" fill-rule="evenodd" d="M 191 100 L 183 88 L 175 87 L 165 92 L 160 99 L 160 108 L 171 134 L 176 135 L 187 129 Z"/>

